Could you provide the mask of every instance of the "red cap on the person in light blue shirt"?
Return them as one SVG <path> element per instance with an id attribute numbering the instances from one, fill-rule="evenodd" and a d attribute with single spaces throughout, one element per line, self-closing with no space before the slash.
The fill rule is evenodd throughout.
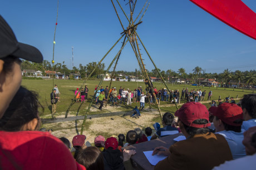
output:
<path id="1" fill-rule="evenodd" d="M 227 123 L 228 125 L 241 126 L 243 123 L 242 121 L 241 123 L 234 123 L 235 120 L 243 120 L 243 110 L 236 104 L 224 102 L 212 113 L 214 116 L 217 116 L 221 121 Z"/>

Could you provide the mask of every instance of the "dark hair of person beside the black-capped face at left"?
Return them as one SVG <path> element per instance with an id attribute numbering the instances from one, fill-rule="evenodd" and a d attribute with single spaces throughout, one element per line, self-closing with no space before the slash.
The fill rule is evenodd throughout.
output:
<path id="1" fill-rule="evenodd" d="M 37 99 L 37 94 L 22 86 L 19 87 L 0 120 L 0 130 L 9 132 L 20 131 L 23 125 L 35 118 L 38 119 L 36 129 L 39 128 L 38 107 L 43 109 L 43 106 Z"/>

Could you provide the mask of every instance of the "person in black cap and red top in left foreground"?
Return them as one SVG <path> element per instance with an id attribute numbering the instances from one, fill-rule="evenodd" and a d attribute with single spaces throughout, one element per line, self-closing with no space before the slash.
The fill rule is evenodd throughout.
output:
<path id="1" fill-rule="evenodd" d="M 0 15 L 0 119 L 21 86 L 21 60 L 41 63 L 40 51 L 19 43 Z M 1 169 L 85 169 L 58 138 L 40 131 L 0 131 Z"/>

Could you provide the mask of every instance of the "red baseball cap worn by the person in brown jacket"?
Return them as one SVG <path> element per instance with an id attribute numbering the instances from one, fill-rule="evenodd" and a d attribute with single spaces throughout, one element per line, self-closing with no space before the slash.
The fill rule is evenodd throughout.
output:
<path id="1" fill-rule="evenodd" d="M 206 106 L 200 104 L 200 102 L 187 102 L 186 104 L 181 106 L 174 115 L 178 116 L 179 120 L 181 120 L 187 126 L 203 128 L 211 125 L 210 123 L 206 123 L 203 125 L 193 123 L 195 120 L 198 119 L 206 119 L 209 122 L 209 112 Z"/>

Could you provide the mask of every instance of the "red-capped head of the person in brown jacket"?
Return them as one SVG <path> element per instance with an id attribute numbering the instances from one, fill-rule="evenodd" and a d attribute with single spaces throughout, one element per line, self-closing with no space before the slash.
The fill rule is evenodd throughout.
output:
<path id="1" fill-rule="evenodd" d="M 187 102 L 175 112 L 181 132 L 188 137 L 209 132 L 209 112 L 199 102 Z"/>

